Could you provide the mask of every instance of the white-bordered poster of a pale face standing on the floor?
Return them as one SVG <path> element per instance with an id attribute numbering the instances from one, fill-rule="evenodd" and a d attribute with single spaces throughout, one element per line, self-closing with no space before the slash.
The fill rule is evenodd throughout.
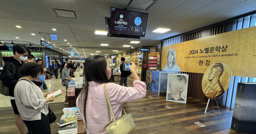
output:
<path id="1" fill-rule="evenodd" d="M 188 75 L 168 74 L 166 101 L 187 102 Z"/>

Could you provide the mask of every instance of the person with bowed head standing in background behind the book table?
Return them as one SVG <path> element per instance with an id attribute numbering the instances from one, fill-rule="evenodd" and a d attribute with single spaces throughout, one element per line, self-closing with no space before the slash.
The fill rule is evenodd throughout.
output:
<path id="1" fill-rule="evenodd" d="M 67 92 L 68 92 L 68 82 L 70 82 L 70 80 L 72 80 L 73 77 L 70 77 L 68 70 L 70 70 L 71 68 L 73 68 L 73 64 L 72 63 L 68 63 L 67 66 L 64 66 L 62 72 L 61 72 L 61 84 L 63 86 L 66 86 L 66 99 L 64 101 L 64 104 L 69 104 L 68 103 L 68 98 L 67 98 Z"/>

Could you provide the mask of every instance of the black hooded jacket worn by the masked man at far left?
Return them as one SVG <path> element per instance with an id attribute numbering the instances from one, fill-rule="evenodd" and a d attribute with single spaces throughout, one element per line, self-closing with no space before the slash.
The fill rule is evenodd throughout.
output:
<path id="1" fill-rule="evenodd" d="M 0 80 L 2 80 L 4 86 L 9 87 L 9 96 L 14 97 L 14 87 L 17 84 L 18 80 L 21 78 L 20 67 L 23 64 L 23 61 L 20 63 L 13 57 L 3 58 L 4 62 L 13 62 L 16 67 L 16 72 L 14 74 L 12 64 L 4 64 Z"/>

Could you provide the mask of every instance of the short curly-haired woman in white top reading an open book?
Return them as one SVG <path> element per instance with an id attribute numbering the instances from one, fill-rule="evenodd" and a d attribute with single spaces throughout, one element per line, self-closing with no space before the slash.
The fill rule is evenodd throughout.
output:
<path id="1" fill-rule="evenodd" d="M 51 133 L 47 102 L 54 101 L 55 97 L 53 95 L 48 99 L 44 97 L 54 91 L 42 93 L 41 89 L 32 82 L 37 80 L 42 72 L 44 72 L 42 66 L 35 62 L 22 65 L 20 68 L 22 78 L 14 88 L 15 103 L 29 134 Z"/>

